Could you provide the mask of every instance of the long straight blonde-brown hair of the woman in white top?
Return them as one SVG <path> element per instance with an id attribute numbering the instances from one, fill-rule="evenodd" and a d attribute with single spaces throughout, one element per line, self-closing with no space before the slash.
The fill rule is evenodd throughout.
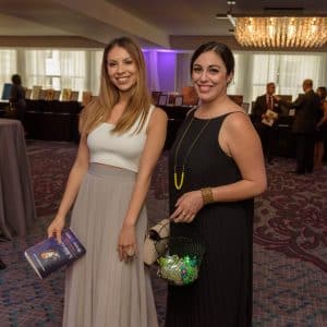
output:
<path id="1" fill-rule="evenodd" d="M 149 111 L 152 98 L 146 84 L 146 71 L 143 53 L 140 47 L 128 37 L 113 39 L 104 50 L 101 64 L 101 81 L 98 99 L 86 106 L 80 119 L 80 133 L 89 133 L 99 123 L 108 120 L 112 112 L 113 106 L 119 101 L 119 90 L 109 78 L 107 70 L 108 52 L 113 47 L 125 49 L 136 64 L 137 76 L 136 83 L 132 89 L 131 97 L 126 104 L 126 110 L 117 122 L 112 132 L 124 133 L 129 131 L 140 118 L 137 133 L 142 130 Z"/>

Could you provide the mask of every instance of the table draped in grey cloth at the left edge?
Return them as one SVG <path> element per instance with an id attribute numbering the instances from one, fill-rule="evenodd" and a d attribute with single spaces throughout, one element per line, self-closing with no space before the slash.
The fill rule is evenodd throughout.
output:
<path id="1" fill-rule="evenodd" d="M 26 235 L 36 220 L 29 161 L 20 121 L 0 119 L 0 234 Z"/>

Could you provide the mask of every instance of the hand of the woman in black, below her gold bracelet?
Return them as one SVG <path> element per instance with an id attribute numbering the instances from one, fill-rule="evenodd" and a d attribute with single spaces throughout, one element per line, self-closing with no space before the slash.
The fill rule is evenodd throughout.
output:
<path id="1" fill-rule="evenodd" d="M 175 204 L 177 209 L 170 216 L 174 222 L 192 222 L 198 210 L 203 207 L 201 191 L 183 194 Z"/>

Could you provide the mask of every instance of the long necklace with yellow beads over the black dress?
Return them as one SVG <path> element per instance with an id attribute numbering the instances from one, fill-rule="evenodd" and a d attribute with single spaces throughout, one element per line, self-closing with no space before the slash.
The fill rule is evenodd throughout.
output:
<path id="1" fill-rule="evenodd" d="M 181 172 L 181 179 L 180 179 L 180 182 L 179 182 L 179 178 L 178 178 L 178 171 L 177 171 L 177 158 L 178 158 L 178 153 L 180 150 L 180 147 L 181 147 L 181 144 L 182 142 L 184 141 L 184 137 L 186 136 L 192 123 L 194 121 L 194 116 L 192 117 L 189 125 L 186 126 L 186 129 L 184 130 L 178 145 L 177 145 L 177 148 L 175 148 L 175 153 L 174 153 L 174 166 L 173 166 L 173 184 L 174 184 L 174 187 L 175 190 L 181 190 L 182 186 L 183 186 L 183 183 L 184 183 L 184 178 L 185 178 L 185 164 L 186 164 L 186 160 L 190 156 L 190 153 L 191 150 L 193 149 L 195 143 L 197 142 L 197 140 L 199 138 L 201 134 L 203 133 L 203 131 L 207 128 L 207 125 L 209 124 L 209 122 L 211 121 L 211 119 L 207 120 L 206 123 L 203 125 L 203 128 L 201 129 L 199 133 L 197 134 L 197 136 L 193 140 L 191 146 L 189 147 L 187 152 L 186 152 L 186 155 L 184 157 L 184 160 L 183 160 L 183 165 L 182 165 L 182 172 Z"/>

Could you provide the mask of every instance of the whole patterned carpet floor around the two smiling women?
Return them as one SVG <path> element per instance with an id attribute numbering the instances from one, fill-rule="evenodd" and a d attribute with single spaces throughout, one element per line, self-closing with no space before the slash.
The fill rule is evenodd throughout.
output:
<path id="1" fill-rule="evenodd" d="M 39 280 L 23 252 L 44 238 L 76 145 L 29 141 L 27 150 L 39 219 L 27 238 L 0 243 L 8 265 L 0 270 L 0 326 L 61 326 L 64 271 Z M 253 326 L 327 326 L 327 169 L 294 175 L 287 172 L 293 165 L 278 158 L 269 166 L 269 189 L 255 202 Z M 168 214 L 167 153 L 156 168 L 147 207 L 152 222 Z M 162 325 L 166 286 L 152 272 Z"/>

